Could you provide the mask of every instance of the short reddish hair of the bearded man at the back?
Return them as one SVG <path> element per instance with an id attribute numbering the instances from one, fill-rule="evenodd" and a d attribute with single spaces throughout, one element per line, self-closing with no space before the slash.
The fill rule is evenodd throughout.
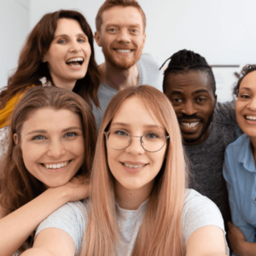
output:
<path id="1" fill-rule="evenodd" d="M 113 8 L 115 6 L 123 6 L 123 7 L 135 7 L 139 10 L 139 12 L 142 15 L 143 18 L 143 28 L 144 31 L 146 29 L 146 15 L 143 12 L 143 9 L 141 8 L 141 6 L 139 5 L 139 3 L 137 3 L 136 0 L 107 0 L 105 1 L 101 8 L 98 10 L 98 13 L 96 15 L 96 30 L 97 32 L 101 31 L 101 26 L 102 26 L 102 13 L 110 8 Z"/>

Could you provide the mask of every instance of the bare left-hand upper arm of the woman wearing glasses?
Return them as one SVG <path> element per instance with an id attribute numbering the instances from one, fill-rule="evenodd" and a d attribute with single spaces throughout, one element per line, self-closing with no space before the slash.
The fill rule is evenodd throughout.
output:
<path id="1" fill-rule="evenodd" d="M 75 244 L 67 232 L 55 228 L 41 231 L 31 249 L 21 256 L 74 256 Z"/>

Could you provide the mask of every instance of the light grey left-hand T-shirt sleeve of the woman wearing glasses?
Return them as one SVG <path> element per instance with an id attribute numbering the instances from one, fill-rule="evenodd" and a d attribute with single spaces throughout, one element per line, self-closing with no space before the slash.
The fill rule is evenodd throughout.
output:
<path id="1" fill-rule="evenodd" d="M 81 202 L 67 203 L 50 214 L 48 218 L 45 218 L 44 221 L 38 225 L 35 238 L 42 230 L 47 228 L 64 230 L 72 237 L 77 255 L 84 237 L 84 218 L 87 218 L 87 215 L 85 214 Z"/>

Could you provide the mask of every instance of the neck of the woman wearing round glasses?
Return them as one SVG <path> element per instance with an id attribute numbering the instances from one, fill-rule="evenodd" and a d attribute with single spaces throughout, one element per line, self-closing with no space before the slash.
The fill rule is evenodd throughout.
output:
<path id="1" fill-rule="evenodd" d="M 137 210 L 146 201 L 153 189 L 154 180 L 139 189 L 125 189 L 120 183 L 115 182 L 115 195 L 119 207 L 126 210 Z"/>

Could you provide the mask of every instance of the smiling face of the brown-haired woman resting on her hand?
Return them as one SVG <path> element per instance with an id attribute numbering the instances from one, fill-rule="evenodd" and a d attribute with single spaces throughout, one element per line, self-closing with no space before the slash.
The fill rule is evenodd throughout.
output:
<path id="1" fill-rule="evenodd" d="M 66 184 L 84 162 L 81 121 L 70 110 L 41 108 L 32 112 L 20 137 L 27 171 L 47 188 Z"/>

